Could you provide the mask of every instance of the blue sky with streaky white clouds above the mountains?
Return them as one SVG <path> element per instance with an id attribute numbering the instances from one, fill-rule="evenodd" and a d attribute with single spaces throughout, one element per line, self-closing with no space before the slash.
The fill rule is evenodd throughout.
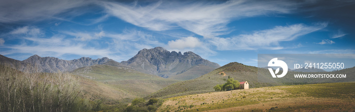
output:
<path id="1" fill-rule="evenodd" d="M 258 54 L 354 54 L 353 1 L 1 1 L 0 54 L 128 60 L 193 51 L 220 65 Z"/>

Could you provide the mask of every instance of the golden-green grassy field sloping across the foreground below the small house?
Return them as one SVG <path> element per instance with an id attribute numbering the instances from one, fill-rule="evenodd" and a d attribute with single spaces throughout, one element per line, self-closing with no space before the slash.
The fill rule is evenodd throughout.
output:
<path id="1" fill-rule="evenodd" d="M 354 111 L 355 83 L 275 86 L 165 99 L 157 111 Z"/>

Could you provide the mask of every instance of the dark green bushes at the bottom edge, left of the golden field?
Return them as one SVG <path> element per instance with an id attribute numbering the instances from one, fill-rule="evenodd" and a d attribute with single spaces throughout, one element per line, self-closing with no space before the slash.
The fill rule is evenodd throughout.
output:
<path id="1" fill-rule="evenodd" d="M 156 111 L 162 105 L 162 100 L 152 98 L 148 102 L 143 98 L 135 98 L 125 111 Z"/>

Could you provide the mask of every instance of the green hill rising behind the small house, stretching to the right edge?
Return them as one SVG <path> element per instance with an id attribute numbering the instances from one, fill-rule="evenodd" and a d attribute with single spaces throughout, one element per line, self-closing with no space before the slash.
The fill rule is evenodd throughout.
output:
<path id="1" fill-rule="evenodd" d="M 355 72 L 355 67 L 347 68 L 339 71 L 334 72 L 319 72 L 319 73 L 345 73 L 348 74 L 346 79 L 329 79 L 334 80 L 335 82 L 350 82 L 353 80 L 353 75 Z M 263 82 L 261 83 L 258 80 L 257 72 L 264 73 L 262 77 L 259 76 L 259 79 L 262 79 Z M 176 97 L 176 96 L 183 96 L 183 95 L 191 95 L 191 94 L 200 94 L 200 93 L 208 93 L 214 92 L 214 86 L 217 84 L 224 84 L 228 78 L 234 78 L 239 82 L 247 81 L 250 85 L 250 88 L 258 88 L 258 87 L 268 87 L 268 86 L 281 86 L 281 85 L 299 85 L 299 84 L 307 84 L 307 83 L 280 83 L 282 80 L 287 80 L 286 82 L 295 82 L 294 78 L 290 79 L 275 79 L 270 76 L 270 72 L 268 69 L 258 69 L 255 66 L 248 66 L 237 62 L 232 62 L 226 64 L 220 68 L 217 68 L 209 73 L 204 74 L 203 76 L 196 78 L 194 80 L 188 80 L 183 82 L 178 82 L 172 85 L 165 87 L 153 94 L 151 94 L 148 98 L 160 97 L 160 98 L 169 98 L 169 97 Z M 289 71 L 285 77 L 294 77 L 291 74 L 294 73 L 307 73 L 307 72 L 296 72 L 296 71 Z M 314 73 L 314 72 L 313 72 Z M 303 82 L 318 82 L 324 83 L 327 81 L 321 81 L 322 79 L 302 79 Z M 323 79 L 324 80 L 324 79 Z"/>

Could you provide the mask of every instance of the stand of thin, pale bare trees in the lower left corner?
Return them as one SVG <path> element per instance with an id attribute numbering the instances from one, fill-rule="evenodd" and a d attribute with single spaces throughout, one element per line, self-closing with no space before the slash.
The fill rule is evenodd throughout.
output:
<path id="1" fill-rule="evenodd" d="M 79 111 L 79 81 L 67 73 L 21 72 L 0 65 L 0 111 Z"/>

